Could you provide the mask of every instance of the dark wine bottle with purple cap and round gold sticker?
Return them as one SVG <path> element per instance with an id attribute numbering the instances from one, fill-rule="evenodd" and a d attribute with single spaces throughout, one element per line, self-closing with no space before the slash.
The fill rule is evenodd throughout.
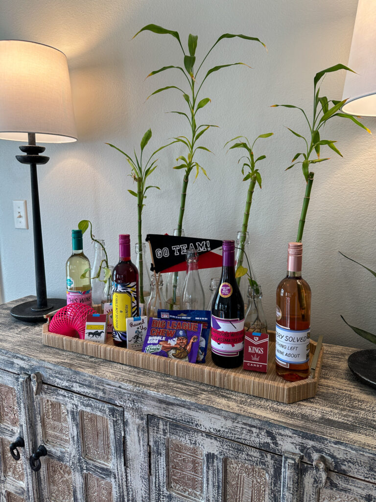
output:
<path id="1" fill-rule="evenodd" d="M 222 275 L 212 304 L 212 360 L 222 368 L 243 364 L 244 301 L 235 279 L 235 241 L 222 245 Z"/>

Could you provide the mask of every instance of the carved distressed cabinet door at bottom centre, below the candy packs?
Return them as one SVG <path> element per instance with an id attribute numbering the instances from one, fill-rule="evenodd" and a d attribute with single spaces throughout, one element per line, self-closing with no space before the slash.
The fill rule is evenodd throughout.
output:
<path id="1" fill-rule="evenodd" d="M 282 457 L 149 416 L 150 501 L 279 502 Z"/>

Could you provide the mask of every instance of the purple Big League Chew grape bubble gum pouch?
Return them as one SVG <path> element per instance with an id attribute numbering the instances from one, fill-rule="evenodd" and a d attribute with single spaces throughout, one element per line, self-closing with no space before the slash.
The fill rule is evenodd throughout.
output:
<path id="1" fill-rule="evenodd" d="M 202 326 L 198 322 L 150 318 L 142 352 L 196 362 Z"/>

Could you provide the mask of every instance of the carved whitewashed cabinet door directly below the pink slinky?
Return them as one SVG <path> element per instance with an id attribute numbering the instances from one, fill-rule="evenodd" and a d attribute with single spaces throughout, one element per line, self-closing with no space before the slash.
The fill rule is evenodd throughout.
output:
<path id="1" fill-rule="evenodd" d="M 123 409 L 42 384 L 34 398 L 43 502 L 124 502 Z"/>

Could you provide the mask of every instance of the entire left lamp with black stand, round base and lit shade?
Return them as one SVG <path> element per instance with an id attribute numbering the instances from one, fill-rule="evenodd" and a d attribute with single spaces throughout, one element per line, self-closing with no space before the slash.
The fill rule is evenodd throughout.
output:
<path id="1" fill-rule="evenodd" d="M 66 56 L 57 49 L 23 40 L 0 41 L 0 139 L 27 142 L 16 158 L 30 164 L 33 205 L 34 257 L 37 300 L 11 310 L 24 321 L 42 321 L 51 310 L 66 304 L 47 298 L 43 255 L 37 165 L 49 157 L 40 155 L 39 143 L 77 140 Z"/>

